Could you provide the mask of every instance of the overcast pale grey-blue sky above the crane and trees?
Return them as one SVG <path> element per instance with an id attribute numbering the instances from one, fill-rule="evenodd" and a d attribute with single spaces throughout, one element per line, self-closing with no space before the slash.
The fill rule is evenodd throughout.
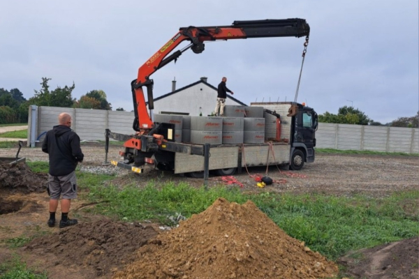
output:
<path id="1" fill-rule="evenodd" d="M 41 77 L 50 77 L 52 89 L 74 82 L 73 98 L 102 89 L 114 110 L 131 111 L 138 68 L 179 27 L 299 17 L 311 33 L 297 101 L 318 114 L 353 105 L 387 123 L 419 110 L 418 10 L 417 0 L 0 0 L 0 88 L 30 98 Z M 205 43 L 202 54 L 188 50 L 152 75 L 154 98 L 171 91 L 174 77 L 180 88 L 203 76 L 216 86 L 226 76 L 248 105 L 293 100 L 303 43 Z"/>

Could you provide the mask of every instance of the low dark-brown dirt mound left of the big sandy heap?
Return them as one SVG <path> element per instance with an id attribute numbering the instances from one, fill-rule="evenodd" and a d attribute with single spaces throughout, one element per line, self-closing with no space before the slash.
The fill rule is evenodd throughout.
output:
<path id="1" fill-rule="evenodd" d="M 132 262 L 135 250 L 158 234 L 153 227 L 111 220 L 80 223 L 59 234 L 34 239 L 25 250 L 37 255 L 52 253 L 57 264 L 90 266 L 97 276 Z"/>

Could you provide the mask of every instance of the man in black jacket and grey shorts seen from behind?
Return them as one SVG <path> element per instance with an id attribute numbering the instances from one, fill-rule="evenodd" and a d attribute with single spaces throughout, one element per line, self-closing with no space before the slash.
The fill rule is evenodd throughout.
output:
<path id="1" fill-rule="evenodd" d="M 77 197 L 75 167 L 83 161 L 80 149 L 80 137 L 71 130 L 71 116 L 65 112 L 58 116 L 59 125 L 47 132 L 42 144 L 42 151 L 48 153 L 50 170 L 48 172 L 48 194 L 50 195 L 49 227 L 55 225 L 55 211 L 61 199 L 61 220 L 59 227 L 68 227 L 78 223 L 77 219 L 68 218 L 71 199 Z"/>

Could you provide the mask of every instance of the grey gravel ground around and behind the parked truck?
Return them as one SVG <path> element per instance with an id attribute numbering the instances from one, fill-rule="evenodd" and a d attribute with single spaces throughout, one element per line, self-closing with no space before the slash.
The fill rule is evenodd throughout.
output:
<path id="1" fill-rule="evenodd" d="M 108 160 L 119 160 L 122 146 L 110 146 Z M 0 157 L 14 157 L 17 149 L 0 149 Z M 158 169 L 146 168 L 144 174 L 134 174 L 114 166 L 105 167 L 104 146 L 82 146 L 84 163 L 80 170 L 84 172 L 117 174 L 114 183 L 120 186 L 136 183 L 145 186 L 149 181 L 159 183 L 166 181 L 188 182 L 193 186 L 202 186 L 203 179 L 191 179 L 175 175 L 172 172 L 161 172 Z M 29 161 L 47 160 L 47 154 L 40 148 L 22 148 L 20 157 Z M 249 168 L 251 176 L 265 175 L 266 167 Z M 390 195 L 400 190 L 419 190 L 419 158 L 413 156 L 369 156 L 369 155 L 335 155 L 318 154 L 314 163 L 304 165 L 300 172 L 289 172 L 271 166 L 268 176 L 274 181 L 271 186 L 260 189 L 256 181 L 249 176 L 246 169 L 235 174 L 235 179 L 243 184 L 243 190 L 269 190 L 288 193 L 326 193 L 330 195 L 352 196 L 366 194 L 372 197 Z M 211 176 L 208 186 L 225 183 L 219 176 Z"/>

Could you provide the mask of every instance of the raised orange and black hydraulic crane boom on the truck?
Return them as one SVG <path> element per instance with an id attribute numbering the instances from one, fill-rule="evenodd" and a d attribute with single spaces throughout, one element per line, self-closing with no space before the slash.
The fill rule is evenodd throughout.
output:
<path id="1" fill-rule="evenodd" d="M 245 38 L 267 38 L 267 37 L 302 37 L 309 36 L 310 27 L 306 20 L 248 20 L 235 21 L 229 26 L 220 27 L 182 27 L 179 32 L 171 38 L 168 43 L 163 45 L 147 62 L 138 69 L 138 77 L 131 82 L 133 93 L 133 105 L 135 119 L 133 129 L 144 135 L 150 132 L 154 123 L 147 113 L 144 91 L 147 88 L 147 98 L 149 110 L 154 109 L 153 102 L 153 80 L 150 76 L 166 66 L 171 61 L 182 55 L 189 48 L 199 54 L 205 50 L 204 42 L 207 40 L 232 40 Z M 183 50 L 177 50 L 170 54 L 184 40 L 188 40 L 190 45 Z M 168 55 L 170 54 L 170 55 Z M 137 147 L 138 148 L 138 147 Z"/>

